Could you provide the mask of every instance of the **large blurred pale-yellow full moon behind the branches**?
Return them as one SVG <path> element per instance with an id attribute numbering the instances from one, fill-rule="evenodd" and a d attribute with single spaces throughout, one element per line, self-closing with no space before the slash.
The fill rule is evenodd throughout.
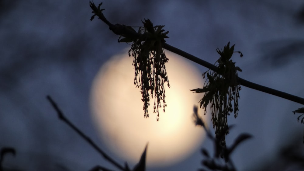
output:
<path id="1" fill-rule="evenodd" d="M 200 148 L 205 137 L 202 127 L 195 126 L 193 106 L 203 94 L 189 89 L 202 87 L 202 73 L 180 56 L 165 52 L 170 88 L 166 87 L 165 113 L 144 118 L 140 89 L 134 85 L 133 57 L 128 53 L 113 56 L 102 65 L 91 90 L 92 118 L 102 140 L 128 163 L 137 163 L 148 144 L 147 165 L 165 166 L 185 159 Z M 200 113 L 203 113 L 200 110 Z M 202 116 L 207 120 L 206 116 Z"/>

